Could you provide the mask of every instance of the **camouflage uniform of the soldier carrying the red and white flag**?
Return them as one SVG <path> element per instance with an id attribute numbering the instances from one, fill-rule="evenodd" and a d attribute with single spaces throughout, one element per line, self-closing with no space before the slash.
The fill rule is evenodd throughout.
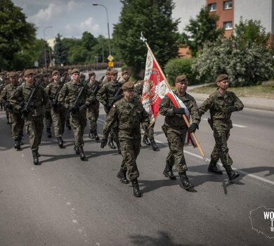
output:
<path id="1" fill-rule="evenodd" d="M 180 96 L 175 91 L 176 96 L 185 104 L 190 112 L 191 119 L 193 123 L 200 123 L 200 115 L 195 99 L 190 96 L 188 93 L 185 93 L 185 96 Z M 174 104 L 168 96 L 164 96 L 160 105 L 159 112 L 161 115 L 165 116 L 164 134 L 167 136 L 167 141 L 169 142 L 169 154 L 167 155 L 167 164 L 171 167 L 174 166 L 178 172 L 183 172 L 188 170 L 188 167 L 185 163 L 185 157 L 183 155 L 183 146 L 185 143 L 185 136 L 187 132 L 187 125 L 183 120 L 181 115 L 176 115 L 173 112 Z"/>

